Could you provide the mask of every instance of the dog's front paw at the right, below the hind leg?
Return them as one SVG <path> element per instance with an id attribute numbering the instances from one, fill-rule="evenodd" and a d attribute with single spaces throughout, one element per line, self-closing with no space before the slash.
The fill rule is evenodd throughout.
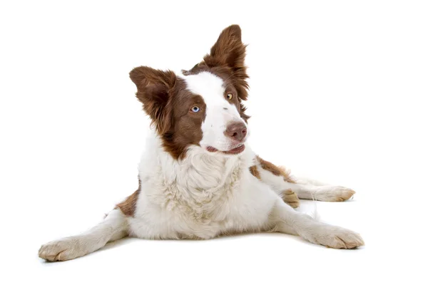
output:
<path id="1" fill-rule="evenodd" d="M 360 234 L 352 232 L 350 229 L 327 224 L 312 228 L 305 238 L 313 244 L 320 244 L 334 249 L 355 249 L 364 245 Z"/>

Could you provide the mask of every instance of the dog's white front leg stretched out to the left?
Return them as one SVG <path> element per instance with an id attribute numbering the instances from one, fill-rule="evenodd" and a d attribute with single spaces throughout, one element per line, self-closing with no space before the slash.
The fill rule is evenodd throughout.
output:
<path id="1" fill-rule="evenodd" d="M 100 224 L 83 234 L 57 239 L 41 246 L 39 257 L 47 261 L 65 261 L 101 249 L 107 242 L 128 235 L 126 216 L 120 209 L 113 209 Z"/>

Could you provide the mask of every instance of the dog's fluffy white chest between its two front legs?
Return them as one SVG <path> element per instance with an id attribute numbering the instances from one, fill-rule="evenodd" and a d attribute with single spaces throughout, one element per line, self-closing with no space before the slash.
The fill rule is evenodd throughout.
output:
<path id="1" fill-rule="evenodd" d="M 238 224 L 258 229 L 265 223 L 270 190 L 250 175 L 245 157 L 223 160 L 191 151 L 183 162 L 158 157 L 140 171 L 141 193 L 129 221 L 137 237 L 149 232 L 153 239 L 208 239 Z"/>

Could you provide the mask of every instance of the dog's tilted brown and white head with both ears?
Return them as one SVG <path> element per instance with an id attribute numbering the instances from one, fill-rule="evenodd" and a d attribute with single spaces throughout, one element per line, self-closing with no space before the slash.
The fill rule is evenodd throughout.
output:
<path id="1" fill-rule="evenodd" d="M 248 137 L 245 45 L 238 25 L 220 33 L 203 61 L 175 74 L 146 66 L 130 76 L 163 147 L 176 159 L 191 145 L 215 155 L 239 155 Z"/>

